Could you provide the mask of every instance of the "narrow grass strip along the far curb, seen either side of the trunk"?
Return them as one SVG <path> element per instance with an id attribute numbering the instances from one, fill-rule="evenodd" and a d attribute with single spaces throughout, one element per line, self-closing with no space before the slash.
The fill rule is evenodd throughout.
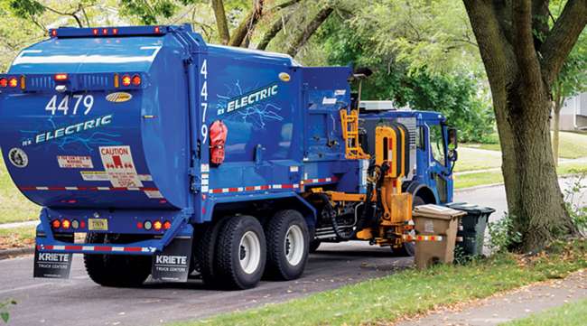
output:
<path id="1" fill-rule="evenodd" d="M 570 174 L 576 173 L 585 173 L 587 172 L 587 163 L 575 163 L 575 162 L 568 162 L 568 163 L 559 163 L 558 168 L 556 169 L 559 176 L 565 176 Z M 503 175 L 501 174 L 501 170 L 498 171 L 489 171 L 489 172 L 475 172 L 475 173 L 468 173 L 468 174 L 461 174 L 461 175 L 454 175 L 454 188 L 455 189 L 463 189 L 475 186 L 481 186 L 486 184 L 495 184 L 495 183 L 502 183 L 503 182 Z"/>

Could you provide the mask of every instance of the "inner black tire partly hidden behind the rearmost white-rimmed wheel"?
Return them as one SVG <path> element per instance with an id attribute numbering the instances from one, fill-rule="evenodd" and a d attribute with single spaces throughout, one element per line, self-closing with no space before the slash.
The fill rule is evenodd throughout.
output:
<path id="1" fill-rule="evenodd" d="M 215 248 L 218 242 L 220 228 L 222 228 L 224 220 L 220 219 L 215 223 L 200 228 L 194 239 L 194 260 L 196 262 L 198 271 L 201 275 L 201 280 L 204 284 L 211 287 L 218 285 L 219 277 L 214 273 L 215 263 Z"/>

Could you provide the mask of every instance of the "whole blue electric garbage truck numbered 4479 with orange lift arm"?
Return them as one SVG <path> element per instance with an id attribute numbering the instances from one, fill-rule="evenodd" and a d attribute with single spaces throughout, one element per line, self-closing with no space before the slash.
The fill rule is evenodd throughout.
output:
<path id="1" fill-rule="evenodd" d="M 452 201 L 456 132 L 360 101 L 349 67 L 207 44 L 190 26 L 58 28 L 0 75 L 0 146 L 42 206 L 33 274 L 105 286 L 292 280 L 321 242 L 412 255 Z M 452 145 L 452 148 L 449 146 Z"/>

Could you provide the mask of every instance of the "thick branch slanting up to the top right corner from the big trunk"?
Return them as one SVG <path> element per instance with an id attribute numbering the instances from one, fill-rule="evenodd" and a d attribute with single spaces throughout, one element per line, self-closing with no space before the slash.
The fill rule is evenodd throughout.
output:
<path id="1" fill-rule="evenodd" d="M 587 23 L 587 0 L 568 0 L 540 47 L 542 76 L 552 84 Z"/>

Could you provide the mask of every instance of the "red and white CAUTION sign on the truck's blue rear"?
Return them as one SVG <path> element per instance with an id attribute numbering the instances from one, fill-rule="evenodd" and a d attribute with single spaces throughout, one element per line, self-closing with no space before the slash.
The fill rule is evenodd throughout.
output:
<path id="1" fill-rule="evenodd" d="M 99 150 L 108 180 L 114 187 L 143 187 L 136 173 L 130 146 L 100 146 Z"/>

